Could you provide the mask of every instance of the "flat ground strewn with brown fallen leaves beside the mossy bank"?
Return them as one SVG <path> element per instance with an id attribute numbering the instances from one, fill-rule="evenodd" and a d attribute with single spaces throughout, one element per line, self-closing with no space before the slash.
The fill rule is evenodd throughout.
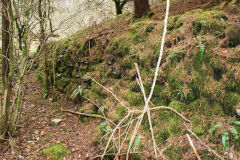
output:
<path id="1" fill-rule="evenodd" d="M 27 87 L 17 136 L 0 145 L 0 159 L 46 159 L 44 149 L 56 143 L 67 146 L 71 153 L 67 159 L 85 160 L 96 156 L 99 149 L 92 137 L 99 121 L 91 119 L 83 123 L 77 115 L 62 113 L 61 108 L 72 109 L 75 104 L 66 100 L 44 100 L 40 85 L 33 79 L 33 73 L 25 79 Z M 52 126 L 55 118 L 63 121 Z"/>

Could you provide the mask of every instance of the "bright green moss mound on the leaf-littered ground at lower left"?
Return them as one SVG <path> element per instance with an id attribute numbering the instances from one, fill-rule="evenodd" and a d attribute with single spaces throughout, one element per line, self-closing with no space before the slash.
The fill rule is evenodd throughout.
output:
<path id="1" fill-rule="evenodd" d="M 62 160 L 67 154 L 69 154 L 69 151 L 64 144 L 58 143 L 45 149 L 43 153 L 45 156 L 53 160 Z"/>

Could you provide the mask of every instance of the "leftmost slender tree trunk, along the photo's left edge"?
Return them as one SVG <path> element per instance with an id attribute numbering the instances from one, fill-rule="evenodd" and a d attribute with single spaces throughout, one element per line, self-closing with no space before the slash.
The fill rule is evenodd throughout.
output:
<path id="1" fill-rule="evenodd" d="M 1 109 L 0 109 L 0 138 L 4 138 L 8 130 L 8 114 L 10 110 L 9 96 L 10 96 L 10 0 L 1 0 L 2 3 L 2 94 Z"/>

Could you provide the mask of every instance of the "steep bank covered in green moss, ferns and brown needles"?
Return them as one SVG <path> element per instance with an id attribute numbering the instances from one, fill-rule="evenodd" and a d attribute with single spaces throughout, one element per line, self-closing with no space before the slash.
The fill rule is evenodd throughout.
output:
<path id="1" fill-rule="evenodd" d="M 240 126 L 236 123 L 237 109 L 240 109 L 239 8 L 233 5 L 221 10 L 215 6 L 169 17 L 161 73 L 152 104 L 170 106 L 192 123 L 185 123 L 170 111 L 152 112 L 155 137 L 163 149 L 163 158 L 196 158 L 185 136 L 189 128 L 220 155 L 228 151 L 227 159 L 240 158 Z M 50 44 L 48 68 L 53 88 L 78 103 L 80 112 L 96 114 L 104 110 L 109 119 L 118 123 L 127 110 L 85 76 L 88 75 L 111 89 L 129 108 L 141 109 L 144 98 L 136 82 L 134 63 L 139 65 L 148 94 L 163 31 L 162 15 L 156 15 L 134 19 L 131 14 L 125 14 Z M 38 70 L 41 78 L 41 66 Z M 82 90 L 82 96 L 72 94 L 77 89 Z M 101 106 L 100 109 L 87 99 Z M 106 123 L 101 123 L 94 137 L 96 143 L 106 143 L 106 137 L 101 138 L 106 132 Z M 147 117 L 140 134 L 143 138 L 138 151 L 151 159 Z M 226 134 L 229 147 L 222 144 Z M 202 159 L 215 159 L 203 144 L 195 143 L 195 147 Z"/>

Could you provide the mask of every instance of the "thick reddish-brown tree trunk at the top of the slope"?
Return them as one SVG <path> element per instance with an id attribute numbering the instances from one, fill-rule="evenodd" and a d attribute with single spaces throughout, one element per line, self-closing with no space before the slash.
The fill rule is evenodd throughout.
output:
<path id="1" fill-rule="evenodd" d="M 148 0 L 134 0 L 135 17 L 140 18 L 150 11 Z"/>

